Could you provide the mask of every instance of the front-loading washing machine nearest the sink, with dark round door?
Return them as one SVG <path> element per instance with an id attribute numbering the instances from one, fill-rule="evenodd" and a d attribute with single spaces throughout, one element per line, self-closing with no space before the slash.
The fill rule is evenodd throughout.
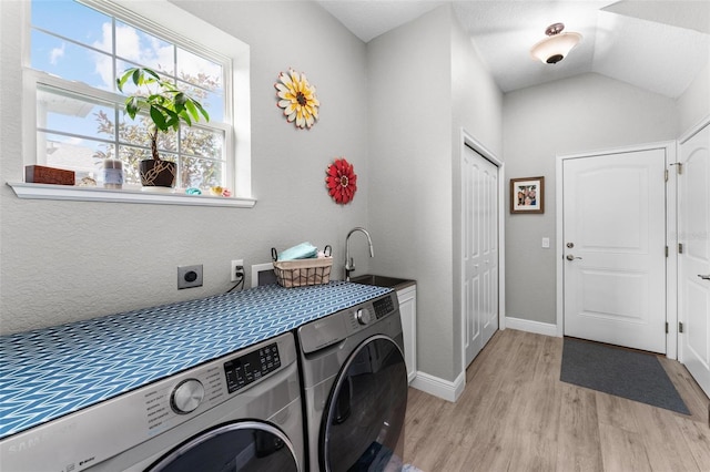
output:
<path id="1" fill-rule="evenodd" d="M 296 335 L 310 471 L 400 470 L 408 384 L 396 294 Z"/>

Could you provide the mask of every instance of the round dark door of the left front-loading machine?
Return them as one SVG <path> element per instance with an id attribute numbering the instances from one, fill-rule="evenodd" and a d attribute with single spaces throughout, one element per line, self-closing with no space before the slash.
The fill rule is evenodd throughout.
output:
<path id="1" fill-rule="evenodd" d="M 255 421 L 205 431 L 164 455 L 150 472 L 298 472 L 293 445 L 275 427 Z"/>

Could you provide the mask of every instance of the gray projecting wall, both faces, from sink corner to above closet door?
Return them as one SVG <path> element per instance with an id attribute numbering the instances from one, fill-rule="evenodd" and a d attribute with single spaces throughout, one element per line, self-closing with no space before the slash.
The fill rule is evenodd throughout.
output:
<path id="1" fill-rule="evenodd" d="M 417 280 L 417 368 L 453 381 L 460 127 L 500 152 L 501 93 L 449 6 L 371 41 L 367 55 L 369 225 L 384 236 L 372 267 Z"/>

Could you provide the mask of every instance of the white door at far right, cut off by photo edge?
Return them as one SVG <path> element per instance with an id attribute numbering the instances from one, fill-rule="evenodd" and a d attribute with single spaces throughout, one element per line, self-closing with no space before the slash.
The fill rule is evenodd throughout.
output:
<path id="1" fill-rule="evenodd" d="M 680 145 L 680 360 L 710 396 L 710 125 Z"/>

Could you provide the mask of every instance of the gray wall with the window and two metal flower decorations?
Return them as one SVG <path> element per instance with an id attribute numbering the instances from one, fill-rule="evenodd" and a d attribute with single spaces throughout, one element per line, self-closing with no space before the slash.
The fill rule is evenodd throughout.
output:
<path id="1" fill-rule="evenodd" d="M 251 45 L 253 209 L 18 199 L 22 181 L 20 2 L 0 2 L 1 332 L 57 325 L 225 291 L 230 260 L 270 248 L 333 245 L 367 225 L 365 44 L 311 2 L 175 2 Z M 292 66 L 317 88 L 321 120 L 286 123 L 274 82 Z M 353 203 L 327 195 L 325 168 L 345 156 L 361 176 Z M 375 239 L 382 236 L 375 234 Z M 359 249 L 359 248 L 358 248 Z M 367 270 L 365 248 L 358 269 Z M 356 256 L 357 257 L 357 256 Z M 176 290 L 176 266 L 204 264 L 204 287 Z M 248 280 L 247 280 L 248 283 Z"/>

